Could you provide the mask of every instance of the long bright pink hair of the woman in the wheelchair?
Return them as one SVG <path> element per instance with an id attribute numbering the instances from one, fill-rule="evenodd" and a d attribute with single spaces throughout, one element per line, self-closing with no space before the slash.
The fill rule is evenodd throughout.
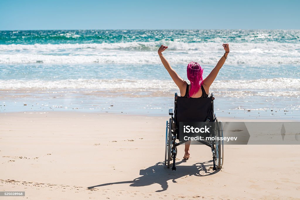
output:
<path id="1" fill-rule="evenodd" d="M 190 62 L 187 64 L 187 79 L 190 81 L 189 97 L 196 94 L 203 84 L 203 69 L 197 62 Z"/>

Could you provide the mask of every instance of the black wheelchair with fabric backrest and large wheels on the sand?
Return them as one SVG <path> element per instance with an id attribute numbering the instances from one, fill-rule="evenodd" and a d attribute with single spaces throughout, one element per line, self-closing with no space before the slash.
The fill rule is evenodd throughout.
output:
<path id="1" fill-rule="evenodd" d="M 214 114 L 214 94 L 211 93 L 207 98 L 186 98 L 180 97 L 175 93 L 175 103 L 173 109 L 169 109 L 171 118 L 166 124 L 166 146 L 165 146 L 165 165 L 170 168 L 170 162 L 173 160 L 172 171 L 176 170 L 177 146 L 187 141 L 176 142 L 179 139 L 179 122 L 213 122 L 211 137 L 223 137 L 223 126 Z M 173 117 L 174 115 L 174 117 Z M 213 170 L 221 169 L 224 159 L 223 140 L 197 140 L 211 148 L 213 158 Z"/>

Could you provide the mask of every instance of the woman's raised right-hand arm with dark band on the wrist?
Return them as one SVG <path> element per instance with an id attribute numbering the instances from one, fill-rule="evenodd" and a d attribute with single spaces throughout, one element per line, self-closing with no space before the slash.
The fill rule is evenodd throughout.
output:
<path id="1" fill-rule="evenodd" d="M 221 67 L 223 66 L 223 64 L 225 63 L 228 53 L 229 53 L 229 44 L 223 44 L 225 53 L 222 56 L 222 58 L 219 60 L 219 62 L 217 63 L 217 65 L 214 67 L 213 70 L 211 70 L 211 73 L 203 80 L 203 85 L 205 85 L 207 88 L 209 88 L 211 86 L 211 84 L 214 82 L 214 79 L 217 77 L 219 70 L 221 69 Z"/>

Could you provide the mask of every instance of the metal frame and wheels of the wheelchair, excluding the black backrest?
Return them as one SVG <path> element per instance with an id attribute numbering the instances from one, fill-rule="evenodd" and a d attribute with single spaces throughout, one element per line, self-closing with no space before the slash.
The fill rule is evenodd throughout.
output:
<path id="1" fill-rule="evenodd" d="M 211 98 L 211 104 L 213 109 L 213 100 L 214 100 L 214 94 L 211 93 L 211 96 L 208 97 Z M 177 99 L 178 94 L 175 93 L 175 108 L 177 108 Z M 171 118 L 169 119 L 169 122 L 167 121 L 166 124 L 166 146 L 165 146 L 165 165 L 167 165 L 167 168 L 170 168 L 170 161 L 173 160 L 173 166 L 172 171 L 176 170 L 176 156 L 177 156 L 177 146 L 184 144 L 187 141 L 181 141 L 179 143 L 176 142 L 176 137 L 178 134 L 178 128 L 176 127 L 176 121 L 173 117 L 173 109 L 169 109 L 169 115 L 171 115 Z M 175 113 L 176 115 L 177 113 Z M 209 117 L 206 118 L 205 123 L 202 125 L 203 127 L 208 124 L 210 121 Z M 221 121 L 218 121 L 215 113 L 213 116 L 213 131 L 210 133 L 210 137 L 223 137 L 223 126 Z M 197 142 L 200 142 L 208 147 L 211 148 L 212 152 L 212 158 L 213 158 L 213 170 L 221 169 L 223 166 L 223 158 L 224 158 L 224 142 L 222 141 L 201 141 L 197 140 Z"/>

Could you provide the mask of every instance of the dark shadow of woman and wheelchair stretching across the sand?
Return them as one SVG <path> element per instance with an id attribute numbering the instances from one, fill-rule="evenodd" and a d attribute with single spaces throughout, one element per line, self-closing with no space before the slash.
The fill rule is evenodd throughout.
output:
<path id="1" fill-rule="evenodd" d="M 160 184 L 162 190 L 157 190 L 155 192 L 162 192 L 167 190 L 168 183 L 167 181 L 172 180 L 173 183 L 176 183 L 176 179 L 184 177 L 184 176 L 208 176 L 213 175 L 220 170 L 213 171 L 212 160 L 208 160 L 204 163 L 196 163 L 192 166 L 180 166 L 181 163 L 186 162 L 186 160 L 181 160 L 176 162 L 176 171 L 172 171 L 171 167 L 168 169 L 164 166 L 164 162 L 156 163 L 154 166 L 148 167 L 147 169 L 140 170 L 140 177 L 135 178 L 133 181 L 121 181 L 114 183 L 105 183 L 100 185 L 95 185 L 88 187 L 88 189 L 92 189 L 95 187 L 102 187 L 113 184 L 128 184 L 131 183 L 132 187 L 141 187 L 148 186 L 152 184 Z"/>

